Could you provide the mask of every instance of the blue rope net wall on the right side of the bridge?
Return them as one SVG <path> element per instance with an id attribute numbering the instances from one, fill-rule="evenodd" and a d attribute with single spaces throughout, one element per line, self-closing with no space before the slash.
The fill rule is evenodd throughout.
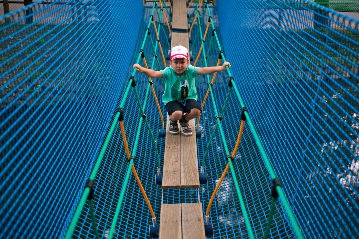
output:
<path id="1" fill-rule="evenodd" d="M 356 237 L 358 20 L 309 1 L 219 1 L 218 15 L 243 101 L 304 236 Z"/>

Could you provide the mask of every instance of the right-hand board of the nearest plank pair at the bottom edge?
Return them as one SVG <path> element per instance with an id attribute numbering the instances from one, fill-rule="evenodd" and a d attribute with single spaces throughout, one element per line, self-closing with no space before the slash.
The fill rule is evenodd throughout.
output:
<path id="1" fill-rule="evenodd" d="M 182 238 L 205 239 L 202 203 L 182 203 Z M 162 213 L 162 211 L 161 211 Z M 161 214 L 162 215 L 162 214 Z M 162 223 L 162 217 L 161 217 Z"/>

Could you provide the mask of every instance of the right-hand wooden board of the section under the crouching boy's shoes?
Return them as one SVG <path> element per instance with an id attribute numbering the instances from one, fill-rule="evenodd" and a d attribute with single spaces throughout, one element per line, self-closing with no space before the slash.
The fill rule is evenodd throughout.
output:
<path id="1" fill-rule="evenodd" d="M 195 120 L 189 122 L 192 135 L 181 137 L 181 188 L 199 188 Z"/>

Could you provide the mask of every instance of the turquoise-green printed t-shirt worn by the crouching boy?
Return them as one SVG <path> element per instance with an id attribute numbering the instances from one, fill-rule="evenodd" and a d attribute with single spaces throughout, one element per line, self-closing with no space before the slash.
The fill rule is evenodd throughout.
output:
<path id="1" fill-rule="evenodd" d="M 164 79 L 164 93 L 162 95 L 163 104 L 176 100 L 184 102 L 189 99 L 197 100 L 195 79 L 198 67 L 188 65 L 182 76 L 178 76 L 172 66 L 160 70 Z"/>

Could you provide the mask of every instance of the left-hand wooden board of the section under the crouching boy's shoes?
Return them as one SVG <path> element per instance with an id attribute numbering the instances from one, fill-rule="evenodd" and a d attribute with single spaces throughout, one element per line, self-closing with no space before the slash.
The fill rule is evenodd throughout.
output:
<path id="1" fill-rule="evenodd" d="M 166 140 L 164 148 L 162 188 L 181 187 L 181 132 L 170 134 L 167 115 Z M 178 125 L 179 126 L 179 125 Z"/>

